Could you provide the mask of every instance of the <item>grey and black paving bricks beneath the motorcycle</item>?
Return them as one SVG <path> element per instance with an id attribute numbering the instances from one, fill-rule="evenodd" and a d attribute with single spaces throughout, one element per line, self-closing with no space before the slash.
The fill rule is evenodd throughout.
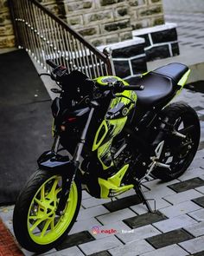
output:
<path id="1" fill-rule="evenodd" d="M 95 199 L 83 191 L 80 214 L 67 240 L 46 254 L 204 255 L 204 95 L 183 90 L 178 100 L 188 102 L 200 116 L 201 145 L 179 179 L 143 183 L 147 198 L 156 199 L 157 213 L 147 213 L 133 190 L 113 201 Z M 153 206 L 152 201 L 150 204 Z M 0 208 L 0 217 L 11 233 L 12 212 L 13 206 Z"/>

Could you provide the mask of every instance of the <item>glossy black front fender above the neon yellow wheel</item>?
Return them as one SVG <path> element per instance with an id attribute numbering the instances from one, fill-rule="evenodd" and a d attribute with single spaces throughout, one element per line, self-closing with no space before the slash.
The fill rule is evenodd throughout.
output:
<path id="1" fill-rule="evenodd" d="M 70 158 L 61 154 L 55 154 L 52 151 L 46 151 L 37 160 L 38 167 L 42 170 L 54 171 L 56 173 L 65 173 L 72 170 L 73 166 Z"/>

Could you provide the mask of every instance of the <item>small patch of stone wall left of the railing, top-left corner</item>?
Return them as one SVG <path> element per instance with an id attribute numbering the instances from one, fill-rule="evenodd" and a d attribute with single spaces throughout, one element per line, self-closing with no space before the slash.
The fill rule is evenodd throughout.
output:
<path id="1" fill-rule="evenodd" d="M 15 46 L 8 0 L 0 0 L 0 49 Z"/>

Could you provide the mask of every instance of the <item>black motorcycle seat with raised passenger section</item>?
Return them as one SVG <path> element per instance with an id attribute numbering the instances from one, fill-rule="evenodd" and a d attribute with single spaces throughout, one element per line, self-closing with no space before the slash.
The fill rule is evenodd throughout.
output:
<path id="1" fill-rule="evenodd" d="M 166 98 L 175 94 L 176 85 L 188 71 L 188 67 L 180 63 L 170 63 L 144 75 L 137 83 L 144 86 L 142 91 L 136 91 L 137 101 L 146 108 L 156 106 Z"/>

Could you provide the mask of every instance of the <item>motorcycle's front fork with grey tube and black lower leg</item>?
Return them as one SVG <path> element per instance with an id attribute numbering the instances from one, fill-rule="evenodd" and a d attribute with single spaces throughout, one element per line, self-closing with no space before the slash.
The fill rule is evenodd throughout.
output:
<path id="1" fill-rule="evenodd" d="M 84 148 L 84 144 L 85 144 L 85 141 L 86 141 L 86 134 L 87 134 L 90 122 L 92 121 L 92 115 L 93 115 L 94 108 L 98 106 L 96 103 L 97 102 L 92 102 L 92 108 L 89 112 L 85 128 L 82 131 L 82 134 L 80 136 L 80 141 L 78 142 L 78 144 L 75 148 L 75 152 L 73 154 L 73 159 L 72 159 L 71 164 L 70 164 L 70 167 L 71 167 L 70 171 L 71 171 L 72 176 L 70 177 L 69 173 L 67 173 L 67 172 L 62 176 L 61 199 L 59 201 L 59 204 L 58 204 L 58 207 L 57 207 L 57 210 L 56 210 L 56 213 L 59 214 L 59 215 L 61 215 L 63 213 L 63 210 L 66 207 L 67 200 L 68 200 L 68 197 L 69 197 L 69 193 L 70 193 L 70 190 L 71 190 L 72 185 L 73 185 L 73 181 L 75 179 L 77 170 L 80 166 L 80 155 L 81 155 L 82 150 Z M 54 144 L 53 144 L 53 147 L 52 147 L 52 150 L 54 150 L 54 153 L 57 153 L 57 150 L 59 148 L 59 144 L 60 144 L 60 136 L 57 135 L 54 138 Z"/>

